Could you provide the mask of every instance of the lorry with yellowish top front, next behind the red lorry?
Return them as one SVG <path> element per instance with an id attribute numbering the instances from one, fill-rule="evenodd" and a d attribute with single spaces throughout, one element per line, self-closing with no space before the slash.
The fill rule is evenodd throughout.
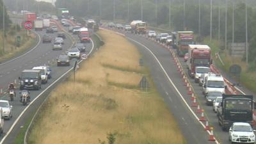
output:
<path id="1" fill-rule="evenodd" d="M 195 45 L 193 31 L 178 31 L 177 32 L 177 54 L 184 56 L 188 52 L 188 45 Z"/>

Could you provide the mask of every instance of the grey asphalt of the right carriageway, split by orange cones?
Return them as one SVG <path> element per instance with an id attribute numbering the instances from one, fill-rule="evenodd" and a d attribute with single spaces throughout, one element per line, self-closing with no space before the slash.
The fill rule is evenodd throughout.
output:
<path id="1" fill-rule="evenodd" d="M 157 90 L 161 92 L 164 102 L 166 102 L 170 111 L 177 119 L 180 129 L 188 143 L 207 143 L 204 140 L 209 139 L 209 132 L 205 132 L 204 127 L 198 122 L 197 118 L 200 118 L 201 114 L 197 114 L 196 108 L 190 106 L 192 103 L 191 95 L 188 95 L 188 89 L 184 86 L 184 81 L 182 81 L 180 72 L 177 70 L 177 65 L 170 54 L 170 50 L 166 49 L 164 45 L 161 45 L 150 38 L 146 38 L 143 35 L 133 35 L 131 33 L 125 33 L 124 31 L 118 31 L 118 33 L 120 33 L 120 35 L 125 35 L 127 39 L 138 46 L 145 63 L 147 63 L 150 68 L 154 83 L 157 85 Z M 158 61 L 156 62 L 156 58 L 154 58 L 153 54 L 162 66 L 159 65 Z M 184 72 L 187 74 L 186 63 L 183 62 L 183 58 L 179 58 L 179 61 Z M 170 77 L 174 86 L 167 80 L 168 77 L 165 76 L 165 74 Z M 194 79 L 191 79 L 190 77 L 188 78 L 191 86 L 193 86 L 200 108 L 205 111 L 205 118 L 209 121 L 210 126 L 214 127 L 214 136 L 218 141 L 208 142 L 230 143 L 228 140 L 228 132 L 222 131 L 220 125 L 218 125 L 218 118 L 216 113 L 212 111 L 212 106 L 206 106 L 205 104 L 202 87 L 198 86 L 198 83 L 195 83 Z M 170 90 L 172 90 L 172 92 L 168 92 Z M 232 88 L 232 90 L 234 90 L 234 88 Z M 236 90 L 236 92 L 239 92 L 239 90 Z M 182 97 L 180 97 L 179 93 Z M 184 102 L 184 100 L 186 102 Z M 189 108 L 187 104 L 189 105 Z M 190 111 L 190 108 L 194 111 L 197 118 L 195 118 L 195 115 Z M 203 123 L 205 125 L 205 122 Z M 202 134 L 202 131 L 204 131 L 205 134 Z M 195 141 L 194 139 L 198 139 L 198 141 Z"/>

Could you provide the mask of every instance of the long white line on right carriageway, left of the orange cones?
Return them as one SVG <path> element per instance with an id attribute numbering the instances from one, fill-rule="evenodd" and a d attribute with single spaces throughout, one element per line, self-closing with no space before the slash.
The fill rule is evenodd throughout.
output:
<path id="1" fill-rule="evenodd" d="M 191 113 L 195 116 L 196 120 L 198 120 L 198 122 L 205 128 L 205 125 L 199 121 L 198 116 L 196 116 L 196 114 L 194 113 L 194 111 L 190 108 L 188 102 L 186 102 L 186 100 L 184 99 L 184 97 L 181 95 L 181 93 L 179 92 L 178 88 L 175 86 L 175 84 L 173 83 L 172 79 L 168 76 L 166 70 L 164 69 L 163 65 L 160 63 L 160 61 L 158 60 L 158 58 L 156 57 L 156 55 L 150 50 L 148 49 L 147 46 L 141 44 L 140 42 L 133 40 L 132 38 L 129 38 L 128 36 L 126 36 L 129 40 L 132 40 L 133 42 L 136 42 L 137 44 L 141 45 L 142 47 L 144 47 L 145 49 L 147 49 L 148 52 L 150 52 L 150 54 L 152 54 L 152 56 L 155 58 L 155 60 L 157 61 L 157 63 L 159 64 L 159 66 L 161 67 L 161 69 L 163 70 L 165 76 L 167 77 L 168 81 L 170 81 L 170 83 L 172 84 L 173 88 L 175 89 L 175 91 L 179 94 L 180 98 L 183 100 L 184 104 L 186 104 L 186 106 L 188 107 L 189 111 L 191 111 Z M 210 131 L 207 131 L 208 134 L 211 134 Z M 217 140 L 215 141 L 217 144 L 220 144 Z"/>

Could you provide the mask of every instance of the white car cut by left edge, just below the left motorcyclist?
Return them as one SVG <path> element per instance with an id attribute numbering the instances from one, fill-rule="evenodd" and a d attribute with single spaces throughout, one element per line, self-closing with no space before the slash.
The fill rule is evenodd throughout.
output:
<path id="1" fill-rule="evenodd" d="M 0 107 L 2 108 L 3 117 L 5 119 L 12 118 L 13 108 L 8 100 L 0 100 Z"/>

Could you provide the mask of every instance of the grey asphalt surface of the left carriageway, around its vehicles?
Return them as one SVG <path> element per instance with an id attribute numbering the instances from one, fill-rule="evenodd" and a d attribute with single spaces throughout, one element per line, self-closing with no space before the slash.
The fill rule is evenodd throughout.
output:
<path id="1" fill-rule="evenodd" d="M 42 84 L 42 89 L 38 91 L 31 90 L 31 102 L 38 97 L 40 93 L 42 93 L 45 88 L 52 85 L 54 87 L 54 81 L 59 79 L 65 72 L 67 72 L 70 68 L 74 66 L 76 60 L 70 61 L 69 67 L 57 67 L 56 66 L 56 57 L 62 53 L 65 53 L 67 49 L 69 49 L 72 45 L 72 40 L 69 36 L 64 41 L 63 49 L 61 51 L 52 51 L 52 43 L 50 44 L 42 44 L 42 35 L 44 35 L 45 30 L 43 31 L 36 31 L 38 34 L 38 40 L 40 40 L 39 44 L 33 49 L 33 51 L 28 52 L 28 54 L 17 58 L 17 60 L 10 61 L 8 63 L 3 63 L 0 65 L 0 86 L 1 88 L 7 88 L 8 84 L 13 81 L 17 81 L 19 83 L 18 77 L 20 76 L 22 70 L 24 69 L 31 69 L 35 66 L 40 65 L 49 65 L 52 69 L 52 78 L 48 79 L 47 84 Z M 53 38 L 57 36 L 56 33 L 50 34 Z M 78 40 L 78 37 L 73 35 L 75 40 Z M 86 45 L 86 54 L 90 52 L 93 48 L 92 42 Z M 58 81 L 60 83 L 63 81 L 61 79 Z M 13 117 L 10 120 L 4 120 L 4 133 L 1 135 L 0 140 L 1 143 L 13 143 L 13 140 L 17 133 L 22 129 L 23 125 L 25 124 L 27 118 L 32 116 L 32 113 L 40 106 L 42 101 L 45 99 L 47 94 L 51 92 L 52 88 L 49 88 L 44 94 L 40 94 L 40 97 L 36 98 L 35 102 L 29 106 L 26 110 L 24 115 L 20 117 L 20 120 L 17 121 L 16 125 L 13 123 L 17 120 L 20 116 L 20 113 L 24 111 L 24 109 L 28 106 L 22 106 L 21 102 L 19 102 L 19 95 L 15 97 L 14 101 L 11 102 L 13 106 Z M 19 94 L 19 90 L 16 91 Z M 9 100 L 8 93 L 5 93 L 0 96 L 0 99 Z M 13 126 L 12 126 L 13 125 Z M 12 127 L 13 131 L 6 136 L 6 132 L 10 130 Z M 3 141 L 4 138 L 4 141 Z"/>

